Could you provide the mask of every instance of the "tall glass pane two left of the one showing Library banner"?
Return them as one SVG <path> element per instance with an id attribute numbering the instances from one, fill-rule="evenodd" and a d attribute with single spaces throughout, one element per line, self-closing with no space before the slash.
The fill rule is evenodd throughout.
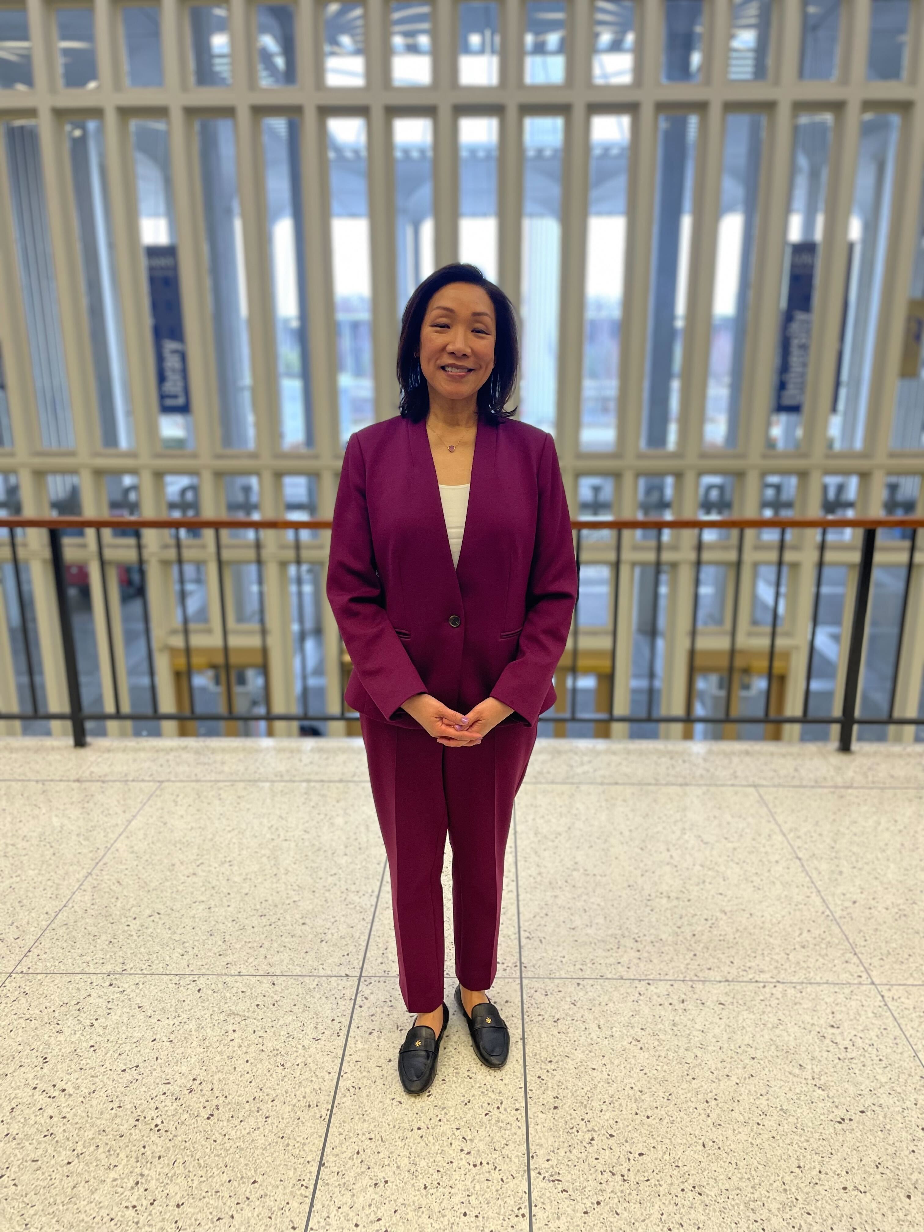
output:
<path id="1" fill-rule="evenodd" d="M 64 367 L 58 282 L 48 230 L 38 124 L 34 120 L 6 121 L 4 137 L 16 264 L 42 445 L 47 450 L 73 450 L 74 424 Z"/>

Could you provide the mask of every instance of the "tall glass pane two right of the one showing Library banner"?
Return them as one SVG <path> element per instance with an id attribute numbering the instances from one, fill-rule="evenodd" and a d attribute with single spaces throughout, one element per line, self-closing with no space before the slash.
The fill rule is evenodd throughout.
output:
<path id="1" fill-rule="evenodd" d="M 299 121 L 262 122 L 276 388 L 283 450 L 314 448 Z"/>

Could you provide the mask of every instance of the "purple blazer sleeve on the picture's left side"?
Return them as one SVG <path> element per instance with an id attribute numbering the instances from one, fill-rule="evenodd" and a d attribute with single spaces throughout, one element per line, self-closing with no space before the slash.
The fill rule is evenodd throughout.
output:
<path id="1" fill-rule="evenodd" d="M 326 595 L 354 670 L 387 718 L 413 694 L 428 691 L 384 609 L 356 432 L 346 442 L 334 501 Z"/>

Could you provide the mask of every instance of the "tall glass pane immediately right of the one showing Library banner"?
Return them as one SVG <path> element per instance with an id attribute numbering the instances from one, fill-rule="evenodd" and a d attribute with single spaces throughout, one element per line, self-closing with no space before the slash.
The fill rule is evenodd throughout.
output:
<path id="1" fill-rule="evenodd" d="M 234 121 L 197 120 L 222 448 L 254 448 L 244 229 Z"/>

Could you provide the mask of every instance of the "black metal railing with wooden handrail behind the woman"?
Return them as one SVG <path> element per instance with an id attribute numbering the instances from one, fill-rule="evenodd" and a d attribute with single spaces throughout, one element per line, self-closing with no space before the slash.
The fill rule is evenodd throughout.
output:
<path id="1" fill-rule="evenodd" d="M 253 719 L 259 718 L 267 723 L 275 721 L 292 721 L 304 723 L 308 721 L 338 721 L 338 719 L 350 719 L 357 716 L 350 711 L 345 710 L 344 706 L 344 673 L 342 673 L 342 653 L 339 654 L 340 663 L 340 710 L 339 711 L 325 711 L 319 713 L 309 712 L 307 707 L 307 689 L 302 690 L 303 706 L 297 711 L 270 711 L 269 707 L 265 712 L 260 713 L 248 713 L 243 715 L 234 708 L 233 694 L 232 694 L 232 676 L 230 676 L 230 657 L 229 657 L 229 642 L 228 642 L 228 620 L 227 620 L 227 606 L 225 606 L 225 583 L 224 583 L 224 568 L 223 568 L 223 556 L 222 556 L 222 543 L 221 543 L 221 531 L 246 531 L 253 533 L 254 542 L 254 559 L 253 564 L 257 570 L 257 593 L 260 596 L 260 648 L 261 648 L 261 662 L 264 671 L 264 681 L 266 697 L 269 699 L 269 662 L 267 662 L 267 622 L 266 622 L 266 602 L 265 602 L 265 574 L 264 574 L 264 554 L 262 543 L 264 535 L 267 531 L 285 531 L 293 533 L 293 558 L 294 563 L 299 569 L 302 565 L 302 531 L 312 530 L 330 530 L 330 521 L 324 520 L 241 520 L 241 519 L 206 519 L 206 517 L 170 517 L 170 519 L 150 519 L 150 517 L 54 517 L 54 519 L 42 519 L 42 517 L 5 517 L 0 519 L 0 527 L 5 527 L 9 536 L 9 548 L 10 559 L 14 568 L 15 586 L 18 596 L 20 611 L 22 612 L 22 633 L 25 639 L 25 658 L 26 668 L 28 675 L 28 689 L 32 707 L 28 711 L 17 710 L 14 712 L 0 712 L 0 721 L 31 721 L 31 719 L 63 719 L 71 724 L 74 744 L 83 747 L 86 744 L 86 723 L 91 721 L 142 721 L 142 719 L 158 719 L 158 721 L 192 721 L 192 719 L 209 719 L 218 722 L 230 722 L 240 719 Z M 806 723 L 806 724 L 838 724 L 840 728 L 839 748 L 843 752 L 849 752 L 851 748 L 851 742 L 854 737 L 855 728 L 859 723 L 872 723 L 872 724 L 922 724 L 924 718 L 922 716 L 896 716 L 894 715 L 894 702 L 896 702 L 896 689 L 898 684 L 899 663 L 902 655 L 902 646 L 906 636 L 907 621 L 908 621 L 908 601 L 912 584 L 912 573 L 915 567 L 915 548 L 917 548 L 917 535 L 918 531 L 924 526 L 924 519 L 915 517 L 752 517 L 752 519 L 593 519 L 593 520 L 573 520 L 572 527 L 577 533 L 575 541 L 575 556 L 578 563 L 578 577 L 580 578 L 580 565 L 582 565 L 582 548 L 583 541 L 582 536 L 585 532 L 599 532 L 600 531 L 616 531 L 616 551 L 615 559 L 611 562 L 615 565 L 615 586 L 614 586 L 614 604 L 612 604 L 612 630 L 611 630 L 611 643 L 610 643 L 610 705 L 609 710 L 605 712 L 582 712 L 577 713 L 577 679 L 579 670 L 579 642 L 580 642 L 580 625 L 579 625 L 579 612 L 575 605 L 575 615 L 572 622 L 572 632 L 569 637 L 570 646 L 565 650 L 559 667 L 567 668 L 567 659 L 570 658 L 570 675 L 574 686 L 570 690 L 570 707 L 565 712 L 549 712 L 542 717 L 542 721 L 551 722 L 622 722 L 622 723 L 695 723 L 695 722 L 715 722 L 715 723 L 729 723 L 729 724 L 754 724 L 768 723 L 768 724 L 780 724 L 780 723 Z M 832 715 L 809 715 L 809 689 L 812 685 L 812 664 L 816 642 L 816 630 L 818 626 L 818 610 L 819 599 L 822 590 L 822 578 L 824 573 L 825 563 L 825 547 L 828 531 L 835 527 L 845 527 L 853 530 L 862 531 L 862 540 L 860 547 L 860 558 L 856 563 L 856 585 L 854 589 L 854 606 L 853 617 L 850 623 L 850 639 L 848 646 L 846 665 L 844 671 L 843 683 L 843 700 L 840 711 Z M 51 564 L 54 578 L 54 594 L 57 598 L 58 607 L 58 622 L 60 625 L 60 647 L 63 652 L 64 660 L 64 674 L 67 681 L 67 695 L 68 695 L 68 708 L 67 710 L 41 710 L 37 701 L 36 690 L 36 670 L 33 663 L 32 648 L 30 646 L 30 631 L 28 622 L 25 618 L 23 607 L 23 595 L 22 595 L 22 582 L 21 582 L 21 561 L 17 552 L 16 543 L 16 531 L 27 529 L 39 529 L 48 532 L 48 541 L 51 548 Z M 144 639 L 147 647 L 147 665 L 149 673 L 150 683 L 150 697 L 153 707 L 149 711 L 132 710 L 131 706 L 126 710 L 121 705 L 120 690 L 118 690 L 118 671 L 116 667 L 116 650 L 112 636 L 112 615 L 110 609 L 108 586 L 106 584 L 106 569 L 107 559 L 103 549 L 103 540 L 101 536 L 102 530 L 117 530 L 126 536 L 131 533 L 134 538 L 134 565 L 138 574 L 139 594 L 142 599 L 142 611 L 144 622 Z M 740 606 L 740 580 L 742 580 L 742 562 L 744 551 L 744 532 L 747 530 L 760 530 L 766 532 L 768 530 L 779 530 L 779 543 L 776 551 L 776 573 L 775 573 L 775 588 L 774 588 L 774 601 L 772 601 L 772 618 L 770 623 L 770 641 L 769 641 L 769 662 L 766 671 L 766 697 L 764 706 L 764 715 L 756 718 L 754 715 L 732 715 L 732 679 L 736 663 L 736 650 L 737 650 L 737 638 L 738 638 L 738 615 Z M 795 531 L 800 529 L 817 530 L 821 529 L 819 551 L 817 557 L 817 575 L 814 583 L 814 595 L 812 604 L 812 633 L 808 641 L 808 658 L 807 658 L 807 670 L 804 680 L 804 694 L 802 712 L 800 715 L 770 715 L 770 699 L 771 699 L 771 683 L 772 683 L 772 669 L 774 659 L 777 653 L 777 638 L 779 638 L 779 607 L 780 607 L 780 586 L 782 570 L 785 564 L 785 547 L 786 547 L 786 531 Z M 856 713 L 856 702 L 860 684 L 860 667 L 864 654 L 864 639 L 866 634 L 867 625 L 867 610 L 870 602 L 870 589 L 873 573 L 873 554 L 876 548 L 876 533 L 878 530 L 902 530 L 910 532 L 908 538 L 908 552 L 907 562 L 904 565 L 904 586 L 902 598 L 901 618 L 898 623 L 897 634 L 897 648 L 894 655 L 894 673 L 891 684 L 891 702 L 888 708 L 888 715 L 871 715 L 871 716 L 859 716 Z M 71 621 L 70 606 L 68 601 L 68 577 L 67 577 L 67 564 L 64 556 L 64 543 L 62 535 L 64 531 L 95 531 L 96 540 L 96 557 L 100 565 L 100 572 L 102 577 L 102 616 L 106 628 L 106 638 L 108 647 L 108 669 L 111 671 L 111 684 L 112 684 L 112 696 L 115 699 L 115 708 L 102 710 L 102 711 L 87 711 L 81 701 L 80 679 L 78 671 L 78 652 L 74 638 L 74 627 Z M 176 578 L 179 580 L 179 601 L 182 615 L 182 648 L 185 657 L 186 678 L 188 684 L 188 697 L 190 708 L 187 711 L 176 710 L 161 710 L 158 703 L 158 685 L 156 685 L 156 671 L 154 665 L 154 650 L 152 643 L 152 620 L 149 611 L 149 590 L 148 590 L 148 562 L 144 558 L 143 549 L 143 531 L 145 530 L 168 530 L 175 532 L 172 535 L 172 553 L 175 556 L 175 563 L 179 565 L 176 572 Z M 187 611 L 187 595 L 186 595 L 186 582 L 184 570 L 184 551 L 182 551 L 182 536 L 180 531 L 188 530 L 200 532 L 212 531 L 214 535 L 214 558 L 218 567 L 218 593 L 219 593 L 219 615 L 221 615 L 221 632 L 222 632 L 222 657 L 224 665 L 224 700 L 227 703 L 227 710 L 222 712 L 208 711 L 207 713 L 197 713 L 195 706 L 193 695 L 193 668 L 192 668 L 192 652 L 190 643 L 190 618 Z M 695 530 L 696 533 L 696 561 L 695 561 L 695 573 L 692 584 L 692 614 L 689 633 L 689 668 L 687 668 L 687 680 L 686 680 L 686 705 L 684 713 L 655 713 L 653 711 L 653 696 L 654 696 L 654 676 L 655 676 L 655 644 L 658 638 L 658 595 L 659 595 L 659 580 L 663 569 L 669 569 L 670 562 L 665 563 L 664 553 L 664 541 L 665 533 L 669 535 L 670 531 L 681 530 Z M 731 618 L 731 638 L 728 646 L 728 668 L 726 675 L 726 706 L 723 716 L 703 715 L 694 712 L 694 678 L 696 670 L 696 638 L 697 638 L 697 605 L 700 595 L 700 578 L 701 570 L 703 568 L 703 533 L 706 531 L 732 531 L 737 530 L 737 549 L 734 554 L 734 590 L 732 601 L 732 618 Z M 616 689 L 616 670 L 617 670 L 617 644 L 620 636 L 620 579 L 623 572 L 623 545 L 622 545 L 622 532 L 623 531 L 644 531 L 644 532 L 657 532 L 657 542 L 654 546 L 654 590 L 653 590 L 653 616 L 650 622 L 650 644 L 648 648 L 648 684 L 647 684 L 647 707 L 646 713 L 615 713 L 614 712 L 614 700 Z M 2 546 L 2 540 L 0 538 L 0 546 Z M 891 542 L 890 549 L 898 551 L 899 543 Z M 634 553 L 634 559 L 631 563 L 641 563 L 638 558 L 638 552 Z M 595 563 L 599 563 L 599 557 L 595 557 Z M 578 604 L 580 602 L 580 595 L 578 595 Z M 299 590 L 299 644 L 304 647 L 304 627 L 303 627 L 303 612 L 301 611 L 301 590 Z M 667 633 L 665 633 L 667 637 Z M 342 642 L 340 642 L 339 649 L 342 649 Z M 302 658 L 303 663 L 303 658 Z M 303 665 L 304 670 L 304 665 Z"/>

